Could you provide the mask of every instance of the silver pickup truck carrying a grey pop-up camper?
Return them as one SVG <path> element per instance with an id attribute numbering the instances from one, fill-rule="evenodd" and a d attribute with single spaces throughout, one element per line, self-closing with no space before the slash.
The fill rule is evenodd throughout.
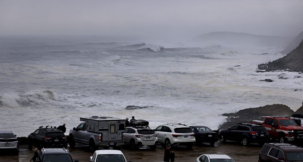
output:
<path id="1" fill-rule="evenodd" d="M 68 143 L 75 147 L 76 143 L 89 145 L 91 151 L 98 147 L 119 150 L 123 145 L 122 135 L 125 132 L 125 119 L 112 117 L 81 117 L 80 123 L 69 131 Z"/>

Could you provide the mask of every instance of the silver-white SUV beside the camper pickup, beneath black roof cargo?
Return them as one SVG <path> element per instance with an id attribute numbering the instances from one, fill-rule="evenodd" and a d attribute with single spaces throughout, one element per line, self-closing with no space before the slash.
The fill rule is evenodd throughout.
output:
<path id="1" fill-rule="evenodd" d="M 149 146 L 152 150 L 157 147 L 157 134 L 147 126 L 126 127 L 123 134 L 123 142 L 127 143 L 131 149 L 138 146 Z"/>

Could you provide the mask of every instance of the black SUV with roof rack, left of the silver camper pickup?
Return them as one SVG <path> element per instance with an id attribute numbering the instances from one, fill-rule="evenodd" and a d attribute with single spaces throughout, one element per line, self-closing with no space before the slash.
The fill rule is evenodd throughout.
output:
<path id="1" fill-rule="evenodd" d="M 32 145 L 37 145 L 38 149 L 43 147 L 67 147 L 67 139 L 61 130 L 53 126 L 40 126 L 39 129 L 28 135 L 28 149 L 32 150 Z"/>

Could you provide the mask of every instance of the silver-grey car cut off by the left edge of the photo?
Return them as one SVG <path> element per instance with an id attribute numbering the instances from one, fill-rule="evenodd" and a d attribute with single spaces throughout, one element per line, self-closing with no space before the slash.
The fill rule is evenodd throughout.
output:
<path id="1" fill-rule="evenodd" d="M 0 130 L 0 151 L 12 150 L 19 154 L 19 143 L 12 131 Z"/>

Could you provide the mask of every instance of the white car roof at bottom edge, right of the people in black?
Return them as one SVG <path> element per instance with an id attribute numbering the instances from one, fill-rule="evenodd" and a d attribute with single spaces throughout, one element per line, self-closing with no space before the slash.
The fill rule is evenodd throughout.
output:
<path id="1" fill-rule="evenodd" d="M 204 154 L 197 158 L 196 162 L 234 162 L 228 155 Z"/>

